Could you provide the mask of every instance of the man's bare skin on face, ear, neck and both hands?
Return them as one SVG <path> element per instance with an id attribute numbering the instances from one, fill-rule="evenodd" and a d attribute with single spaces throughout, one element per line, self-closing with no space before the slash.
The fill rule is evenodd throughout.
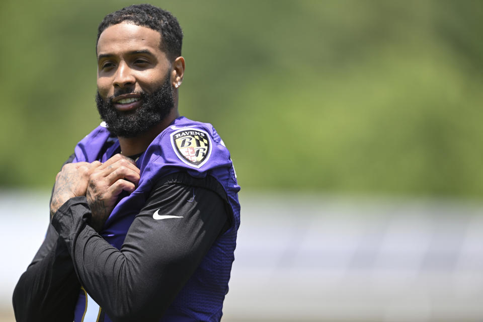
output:
<path id="1" fill-rule="evenodd" d="M 127 104 L 126 98 L 138 98 L 140 90 L 151 94 L 163 85 L 167 73 L 173 86 L 174 107 L 170 114 L 149 131 L 136 137 L 118 137 L 121 153 L 104 164 L 67 164 L 57 174 L 50 213 L 53 216 L 68 199 L 86 196 L 92 211 L 91 226 L 99 231 L 109 217 L 119 194 L 132 192 L 137 187 L 140 171 L 134 160 L 126 155 L 143 152 L 152 140 L 178 116 L 178 83 L 183 81 L 185 60 L 170 61 L 160 47 L 160 34 L 152 29 L 131 23 L 120 23 L 106 28 L 98 41 L 97 87 L 103 98 L 114 96 L 114 107 L 129 112 L 141 101 Z"/>

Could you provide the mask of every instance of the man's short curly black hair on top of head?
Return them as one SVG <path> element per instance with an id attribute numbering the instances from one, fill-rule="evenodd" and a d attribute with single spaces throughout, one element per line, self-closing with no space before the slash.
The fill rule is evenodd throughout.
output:
<path id="1" fill-rule="evenodd" d="M 124 21 L 159 32 L 161 35 L 160 49 L 168 55 L 170 60 L 181 56 L 183 31 L 178 20 L 169 11 L 148 4 L 131 5 L 104 17 L 97 32 L 96 52 L 102 32 L 107 27 Z"/>

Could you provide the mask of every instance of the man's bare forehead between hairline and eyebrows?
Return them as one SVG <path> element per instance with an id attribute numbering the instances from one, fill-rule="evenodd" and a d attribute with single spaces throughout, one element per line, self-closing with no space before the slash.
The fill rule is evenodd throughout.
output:
<path id="1" fill-rule="evenodd" d="M 97 54 L 115 54 L 141 49 L 160 52 L 160 42 L 159 32 L 123 22 L 109 26 L 101 33 L 97 43 Z"/>

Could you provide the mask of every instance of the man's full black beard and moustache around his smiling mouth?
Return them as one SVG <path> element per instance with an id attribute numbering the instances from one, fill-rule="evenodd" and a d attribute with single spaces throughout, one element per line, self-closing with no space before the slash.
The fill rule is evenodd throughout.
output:
<path id="1" fill-rule="evenodd" d="M 123 94 L 140 95 L 141 105 L 134 111 L 121 112 L 114 108 L 112 100 Z M 106 122 L 107 129 L 115 136 L 135 137 L 147 132 L 154 125 L 163 121 L 174 106 L 173 87 L 168 73 L 165 83 L 153 93 L 144 91 L 120 90 L 106 99 L 97 92 L 96 104 L 101 119 Z"/>

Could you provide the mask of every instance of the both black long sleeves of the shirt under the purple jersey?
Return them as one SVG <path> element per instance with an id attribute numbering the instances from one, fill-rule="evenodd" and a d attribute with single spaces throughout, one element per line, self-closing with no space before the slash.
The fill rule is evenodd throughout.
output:
<path id="1" fill-rule="evenodd" d="M 17 320 L 72 321 L 81 284 L 115 321 L 160 318 L 228 227 L 227 209 L 214 178 L 167 176 L 153 188 L 118 250 L 89 226 L 86 198 L 68 200 L 15 288 Z M 177 217 L 156 219 L 154 213 Z"/>

